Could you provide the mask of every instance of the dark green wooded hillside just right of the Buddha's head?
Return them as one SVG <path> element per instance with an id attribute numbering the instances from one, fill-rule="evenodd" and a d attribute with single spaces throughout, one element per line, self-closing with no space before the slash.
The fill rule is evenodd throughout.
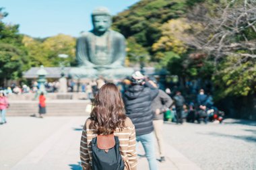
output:
<path id="1" fill-rule="evenodd" d="M 152 44 L 161 37 L 161 26 L 185 14 L 183 0 L 142 0 L 113 17 L 113 28 L 152 54 Z M 131 49 L 133 50 L 133 49 Z"/>

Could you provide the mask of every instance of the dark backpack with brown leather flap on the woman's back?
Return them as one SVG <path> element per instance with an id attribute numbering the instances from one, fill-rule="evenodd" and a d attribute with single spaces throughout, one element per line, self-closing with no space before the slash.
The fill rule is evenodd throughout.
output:
<path id="1" fill-rule="evenodd" d="M 92 138 L 92 170 L 123 170 L 119 138 L 114 134 Z"/>

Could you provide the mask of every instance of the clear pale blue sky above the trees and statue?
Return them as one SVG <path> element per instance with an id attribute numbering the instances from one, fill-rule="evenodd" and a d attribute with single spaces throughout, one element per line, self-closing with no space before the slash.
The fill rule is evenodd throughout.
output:
<path id="1" fill-rule="evenodd" d="M 108 7 L 113 15 L 139 0 L 1 0 L 9 15 L 3 22 L 20 24 L 20 33 L 44 38 L 59 33 L 77 37 L 92 29 L 90 13 Z"/>

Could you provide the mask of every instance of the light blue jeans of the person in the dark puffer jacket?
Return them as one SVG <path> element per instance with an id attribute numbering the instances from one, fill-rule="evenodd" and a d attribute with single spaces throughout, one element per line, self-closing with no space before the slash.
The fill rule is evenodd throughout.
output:
<path id="1" fill-rule="evenodd" d="M 158 163 L 156 161 L 156 155 L 155 155 L 156 153 L 155 153 L 153 132 L 149 134 L 136 136 L 136 141 L 141 142 L 145 150 L 146 157 L 150 165 L 150 170 L 158 170 Z"/>

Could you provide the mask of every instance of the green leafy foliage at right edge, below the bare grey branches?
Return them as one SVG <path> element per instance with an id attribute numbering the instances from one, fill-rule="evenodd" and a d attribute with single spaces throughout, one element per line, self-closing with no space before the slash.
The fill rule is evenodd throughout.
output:
<path id="1" fill-rule="evenodd" d="M 256 60 L 246 60 L 243 64 L 234 67 L 241 60 L 243 60 L 241 56 L 227 56 L 218 66 L 220 71 L 213 77 L 218 98 L 255 93 Z"/>

